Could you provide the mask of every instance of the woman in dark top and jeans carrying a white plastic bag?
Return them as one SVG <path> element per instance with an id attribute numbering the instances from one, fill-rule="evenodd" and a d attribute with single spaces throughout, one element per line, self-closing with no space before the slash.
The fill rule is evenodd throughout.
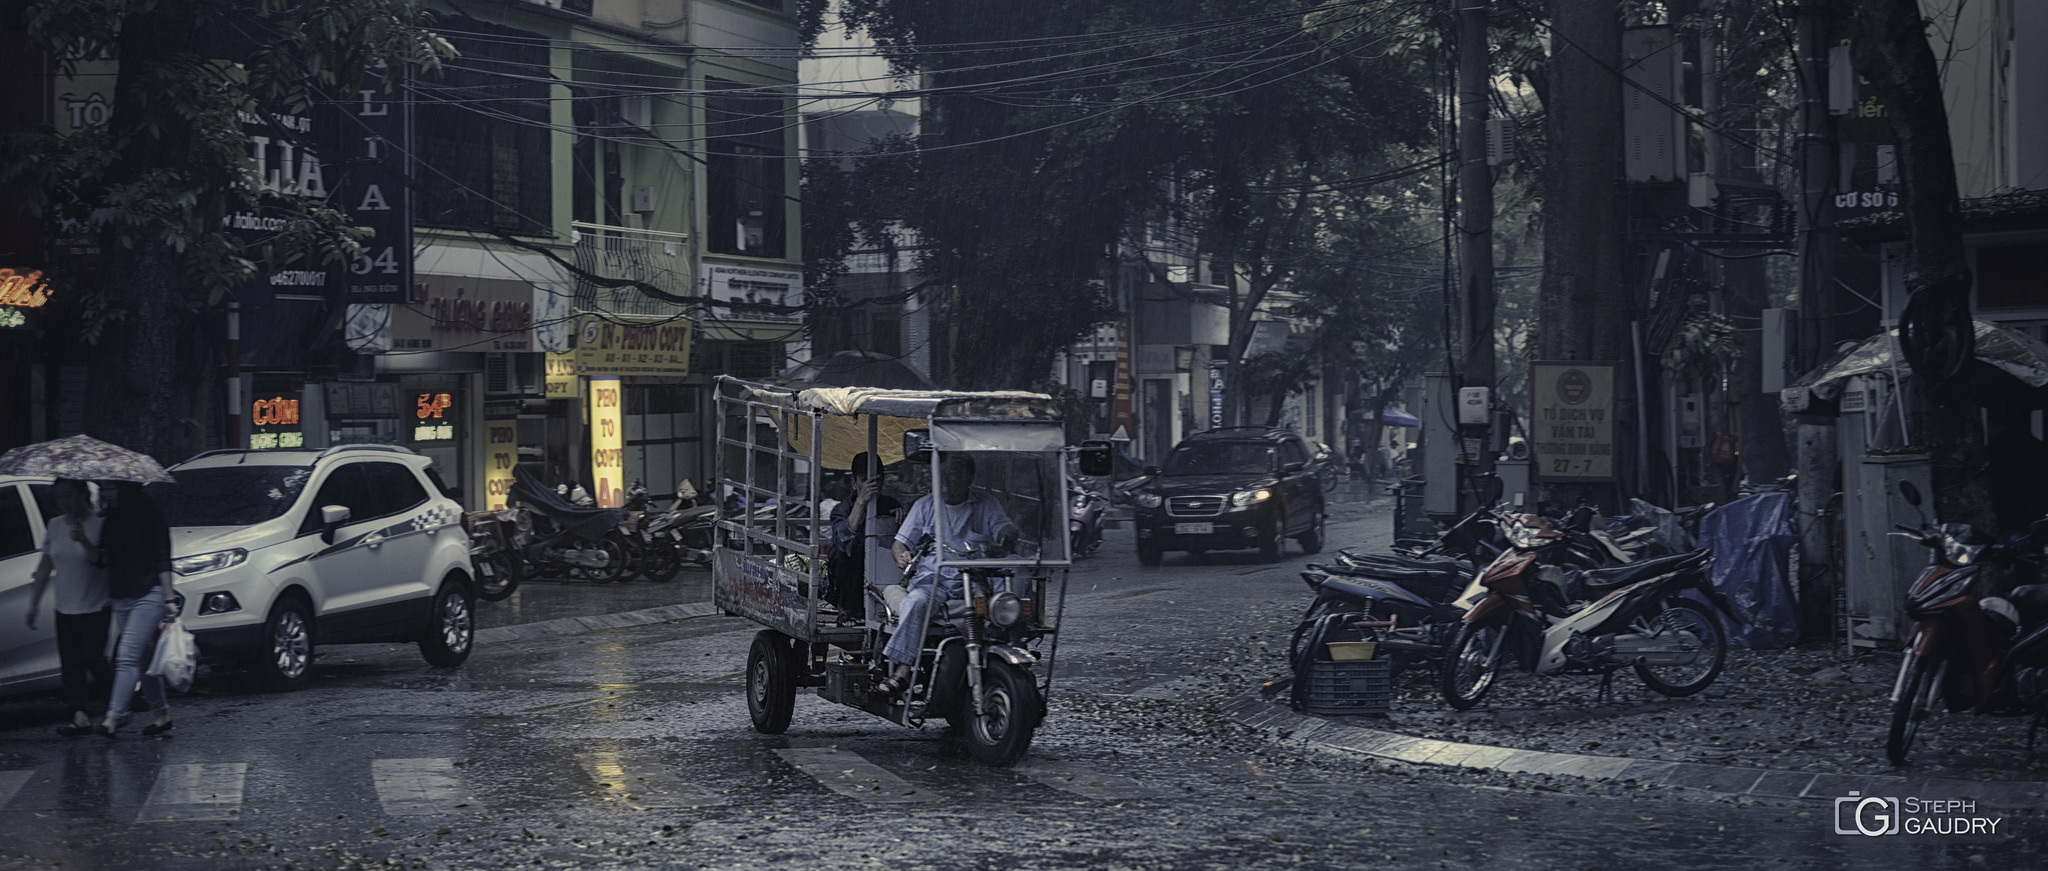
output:
<path id="1" fill-rule="evenodd" d="M 102 488 L 106 492 L 113 502 L 100 549 L 106 553 L 106 592 L 115 609 L 115 689 L 98 734 L 119 734 L 129 717 L 135 685 L 141 682 L 143 699 L 156 709 L 156 721 L 143 725 L 141 734 L 158 736 L 170 732 L 170 703 L 164 699 L 164 680 L 143 674 L 143 666 L 156 654 L 158 629 L 176 619 L 182 605 L 170 588 L 170 525 L 141 484 L 115 482 L 113 490 Z"/>

